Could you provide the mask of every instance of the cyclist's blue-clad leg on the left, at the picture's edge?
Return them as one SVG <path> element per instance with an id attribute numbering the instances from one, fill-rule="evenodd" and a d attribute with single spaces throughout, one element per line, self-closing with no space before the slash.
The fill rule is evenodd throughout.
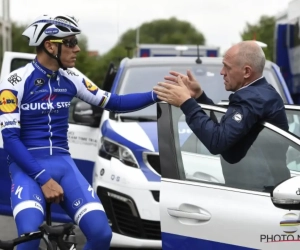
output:
<path id="1" fill-rule="evenodd" d="M 11 205 L 18 235 L 37 231 L 44 220 L 45 200 L 39 185 L 15 163 L 10 165 Z M 20 244 L 17 250 L 39 249 L 40 240 Z"/>

